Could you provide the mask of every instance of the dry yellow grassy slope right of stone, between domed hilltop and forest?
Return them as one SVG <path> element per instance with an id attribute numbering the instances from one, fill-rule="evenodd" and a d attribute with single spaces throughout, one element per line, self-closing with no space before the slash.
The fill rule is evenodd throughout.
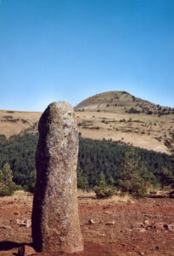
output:
<path id="1" fill-rule="evenodd" d="M 164 140 L 170 137 L 170 129 L 173 126 L 171 115 L 156 117 L 146 114 L 78 112 L 76 117 L 81 124 L 81 137 L 122 140 L 139 148 L 169 153 Z M 126 122 L 120 122 L 122 119 L 126 119 Z M 132 119 L 132 122 L 128 122 L 129 119 Z M 95 130 L 97 127 L 99 130 Z M 158 137 L 161 137 L 161 141 L 157 140 Z"/>

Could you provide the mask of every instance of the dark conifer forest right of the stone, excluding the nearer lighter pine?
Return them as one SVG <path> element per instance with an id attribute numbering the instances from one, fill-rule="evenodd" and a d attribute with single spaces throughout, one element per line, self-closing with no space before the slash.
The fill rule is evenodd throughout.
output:
<path id="1" fill-rule="evenodd" d="M 128 148 L 126 145 L 106 140 L 102 142 L 91 139 L 80 140 L 78 166 L 82 170 L 82 175 L 88 177 L 90 188 L 98 184 L 98 177 L 101 172 L 104 172 L 106 183 L 109 183 L 109 179 L 112 177 L 115 181 L 115 186 L 119 185 L 121 162 Z M 160 174 L 163 172 L 164 167 L 170 169 L 170 156 L 140 148 L 135 148 L 135 152 L 141 162 L 145 163 L 146 169 L 141 173 L 144 181 L 154 186 L 157 184 L 162 186 L 163 179 Z"/>

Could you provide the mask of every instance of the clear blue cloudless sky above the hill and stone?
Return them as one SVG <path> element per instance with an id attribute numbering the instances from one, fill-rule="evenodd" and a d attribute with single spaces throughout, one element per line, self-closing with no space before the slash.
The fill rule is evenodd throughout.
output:
<path id="1" fill-rule="evenodd" d="M 173 0 L 0 0 L 0 109 L 108 90 L 174 107 Z"/>

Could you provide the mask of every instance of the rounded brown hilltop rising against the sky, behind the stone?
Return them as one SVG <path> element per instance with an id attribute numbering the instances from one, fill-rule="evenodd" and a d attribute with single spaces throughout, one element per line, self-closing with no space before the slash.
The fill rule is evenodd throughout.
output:
<path id="1" fill-rule="evenodd" d="M 174 108 L 162 107 L 132 96 L 126 91 L 107 91 L 87 98 L 75 107 L 76 111 L 121 112 L 121 113 L 145 113 L 154 115 L 173 114 Z"/>

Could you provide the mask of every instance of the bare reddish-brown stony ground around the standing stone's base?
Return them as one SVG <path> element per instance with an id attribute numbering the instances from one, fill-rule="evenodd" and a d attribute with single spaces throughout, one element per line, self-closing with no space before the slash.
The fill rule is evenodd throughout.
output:
<path id="1" fill-rule="evenodd" d="M 85 248 L 79 256 L 174 255 L 174 198 L 134 201 L 79 198 Z M 31 245 L 32 196 L 18 193 L 0 198 L 0 255 L 22 255 Z M 34 253 L 36 256 L 69 255 Z"/>

